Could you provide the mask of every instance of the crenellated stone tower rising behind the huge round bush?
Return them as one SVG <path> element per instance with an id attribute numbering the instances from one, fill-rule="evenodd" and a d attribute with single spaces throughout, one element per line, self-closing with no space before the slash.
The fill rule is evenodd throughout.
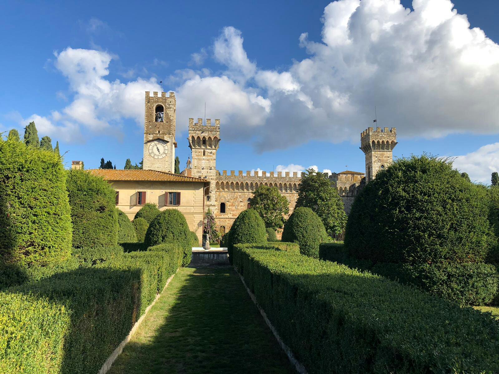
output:
<path id="1" fill-rule="evenodd" d="M 395 127 L 368 128 L 360 134 L 360 149 L 366 155 L 366 182 L 376 178 L 376 174 L 393 162 L 392 151 L 397 145 Z"/>

